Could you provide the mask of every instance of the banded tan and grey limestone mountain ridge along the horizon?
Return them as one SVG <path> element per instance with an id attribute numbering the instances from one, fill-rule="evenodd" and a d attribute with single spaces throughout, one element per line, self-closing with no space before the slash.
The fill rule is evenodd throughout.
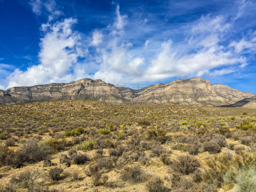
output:
<path id="1" fill-rule="evenodd" d="M 212 85 L 202 78 L 177 79 L 166 84 L 149 85 L 140 90 L 115 87 L 100 79 L 81 79 L 68 84 L 52 83 L 0 90 L 1 104 L 47 100 L 90 99 L 107 102 L 153 102 L 191 106 L 230 105 L 255 96 L 227 85 Z"/>

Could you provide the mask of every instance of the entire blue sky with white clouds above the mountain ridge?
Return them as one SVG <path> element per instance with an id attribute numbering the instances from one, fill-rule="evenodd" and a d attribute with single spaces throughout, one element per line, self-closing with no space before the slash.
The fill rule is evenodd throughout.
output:
<path id="1" fill-rule="evenodd" d="M 256 94 L 256 1 L 0 0 L 0 89 L 201 77 Z"/>

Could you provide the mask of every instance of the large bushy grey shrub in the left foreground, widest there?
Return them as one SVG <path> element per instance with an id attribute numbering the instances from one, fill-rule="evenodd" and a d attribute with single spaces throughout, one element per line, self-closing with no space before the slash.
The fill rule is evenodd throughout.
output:
<path id="1" fill-rule="evenodd" d="M 17 157 L 20 162 L 38 162 L 48 159 L 51 147 L 48 144 L 39 145 L 37 139 L 29 139 L 20 146 L 20 154 Z"/>

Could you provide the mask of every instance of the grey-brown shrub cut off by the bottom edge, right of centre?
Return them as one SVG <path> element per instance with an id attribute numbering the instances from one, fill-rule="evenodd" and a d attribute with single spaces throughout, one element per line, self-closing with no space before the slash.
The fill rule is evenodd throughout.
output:
<path id="1" fill-rule="evenodd" d="M 161 180 L 159 177 L 154 177 L 150 179 L 145 187 L 148 192 L 165 192 L 170 190 L 166 186 L 164 186 L 164 181 Z"/>

